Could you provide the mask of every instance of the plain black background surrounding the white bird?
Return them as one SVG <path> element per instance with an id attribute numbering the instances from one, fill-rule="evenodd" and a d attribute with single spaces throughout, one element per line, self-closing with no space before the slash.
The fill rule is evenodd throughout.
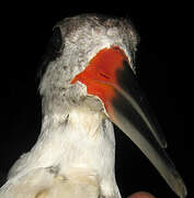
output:
<path id="1" fill-rule="evenodd" d="M 77 2 L 75 7 L 77 6 Z M 192 197 L 192 130 L 185 130 L 187 101 L 184 43 L 186 19 L 182 4 L 127 4 L 121 8 L 67 8 L 52 3 L 4 7 L 1 18 L 1 139 L 0 174 L 5 176 L 14 161 L 36 142 L 41 129 L 37 68 L 55 23 L 66 16 L 99 12 L 132 19 L 140 35 L 136 65 L 140 85 L 152 106 L 169 143 L 168 153 Z M 112 2 L 114 4 L 114 2 Z M 118 2 L 117 2 L 118 3 Z M 2 7 L 3 9 L 3 7 Z M 166 182 L 141 152 L 116 129 L 116 177 L 123 197 L 147 190 L 158 198 L 175 198 Z"/>

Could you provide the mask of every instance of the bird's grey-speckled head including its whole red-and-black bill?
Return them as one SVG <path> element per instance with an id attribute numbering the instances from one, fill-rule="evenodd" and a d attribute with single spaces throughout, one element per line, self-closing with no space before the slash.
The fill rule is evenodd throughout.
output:
<path id="1" fill-rule="evenodd" d="M 167 143 L 135 75 L 138 36 L 125 19 L 82 14 L 56 24 L 41 81 L 43 112 L 87 105 L 115 123 L 170 187 L 186 188 L 167 156 Z"/>

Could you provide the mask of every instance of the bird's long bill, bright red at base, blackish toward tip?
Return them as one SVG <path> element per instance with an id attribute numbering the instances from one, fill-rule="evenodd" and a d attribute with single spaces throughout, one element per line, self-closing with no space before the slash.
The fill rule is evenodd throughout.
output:
<path id="1" fill-rule="evenodd" d="M 185 197 L 184 183 L 164 152 L 166 140 L 124 52 L 118 47 L 100 51 L 71 82 L 77 80 L 102 100 L 111 121 L 141 150 L 178 196 Z"/>

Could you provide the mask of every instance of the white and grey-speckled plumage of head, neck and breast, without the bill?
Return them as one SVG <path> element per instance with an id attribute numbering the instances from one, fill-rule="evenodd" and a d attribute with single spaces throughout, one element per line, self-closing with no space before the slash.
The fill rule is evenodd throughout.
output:
<path id="1" fill-rule="evenodd" d="M 132 62 L 136 33 L 126 20 L 103 22 L 95 15 L 66 19 L 56 26 L 65 48 L 39 85 L 42 132 L 11 168 L 0 198 L 121 198 L 113 125 L 102 102 L 88 96 L 81 82 L 70 81 L 104 47 L 118 46 Z"/>

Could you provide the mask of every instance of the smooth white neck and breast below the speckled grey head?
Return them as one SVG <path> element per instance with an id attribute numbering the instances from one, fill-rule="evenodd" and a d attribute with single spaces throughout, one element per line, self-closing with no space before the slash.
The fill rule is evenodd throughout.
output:
<path id="1" fill-rule="evenodd" d="M 102 113 L 79 107 L 68 118 L 44 119 L 43 130 L 32 151 L 12 167 L 0 196 L 119 197 L 113 127 Z"/>

